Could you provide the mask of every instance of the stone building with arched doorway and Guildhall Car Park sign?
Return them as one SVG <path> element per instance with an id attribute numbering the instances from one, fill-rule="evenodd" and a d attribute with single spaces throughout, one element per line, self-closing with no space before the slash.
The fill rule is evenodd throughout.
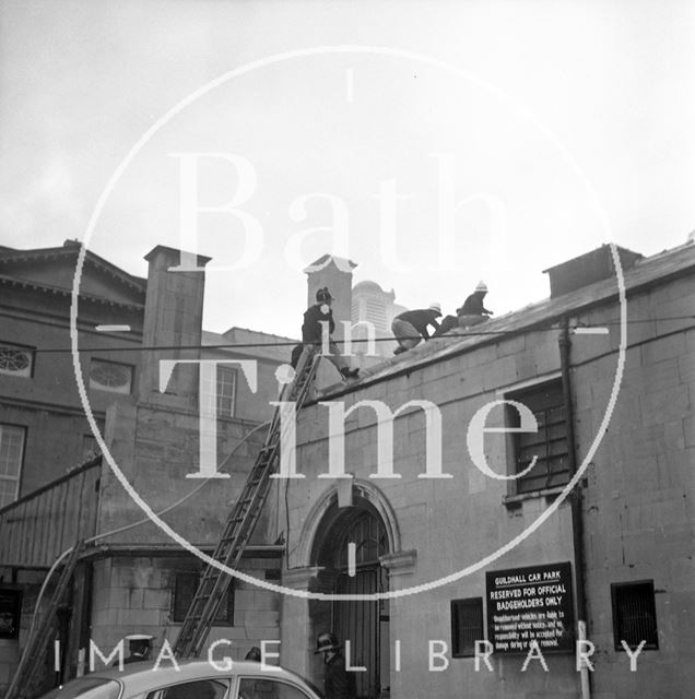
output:
<path id="1" fill-rule="evenodd" d="M 302 410 L 305 477 L 282 485 L 276 530 L 283 665 L 320 680 L 333 630 L 363 697 L 690 697 L 694 270 L 692 244 L 604 246 L 487 334 Z"/>

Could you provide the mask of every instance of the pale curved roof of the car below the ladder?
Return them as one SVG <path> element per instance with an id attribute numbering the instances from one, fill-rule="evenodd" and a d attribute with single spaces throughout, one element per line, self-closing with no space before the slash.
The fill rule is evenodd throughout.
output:
<path id="1" fill-rule="evenodd" d="M 273 665 L 273 670 L 263 670 L 261 663 L 250 661 L 233 661 L 229 670 L 216 670 L 215 665 L 222 666 L 222 661 L 215 664 L 203 660 L 180 660 L 177 661 L 178 670 L 172 661 L 163 660 L 160 667 L 154 670 L 155 662 L 139 662 L 123 665 L 123 670 L 118 667 L 107 668 L 90 673 L 90 677 L 99 677 L 103 679 L 118 679 L 123 682 L 128 689 L 137 689 L 142 685 L 143 688 L 152 688 L 153 674 L 157 677 L 157 685 L 163 686 L 169 682 L 186 682 L 187 679 L 202 679 L 204 677 L 231 677 L 236 675 L 250 675 L 256 677 L 264 677 L 267 679 L 290 679 L 299 685 L 307 686 L 305 679 L 291 673 L 287 670 Z M 268 667 L 268 665 L 266 665 Z"/>

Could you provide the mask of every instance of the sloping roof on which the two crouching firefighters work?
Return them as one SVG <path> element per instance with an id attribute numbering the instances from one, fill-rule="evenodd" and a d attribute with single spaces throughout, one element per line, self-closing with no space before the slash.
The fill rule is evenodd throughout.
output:
<path id="1" fill-rule="evenodd" d="M 695 245 L 692 242 L 645 258 L 624 271 L 626 295 L 629 296 L 640 288 L 662 283 L 668 279 L 684 275 L 692 272 L 694 268 Z M 520 310 L 491 319 L 484 325 L 476 325 L 470 331 L 453 331 L 453 336 L 429 340 L 369 369 L 361 370 L 358 380 L 346 386 L 341 384 L 338 390 L 331 387 L 327 393 L 353 392 L 363 386 L 377 383 L 389 377 L 411 372 L 419 367 L 473 351 L 482 345 L 499 342 L 499 336 L 503 334 L 513 335 L 547 327 L 569 313 L 577 315 L 591 307 L 616 301 L 617 298 L 617 279 L 601 280 L 563 296 L 546 298 Z"/>

